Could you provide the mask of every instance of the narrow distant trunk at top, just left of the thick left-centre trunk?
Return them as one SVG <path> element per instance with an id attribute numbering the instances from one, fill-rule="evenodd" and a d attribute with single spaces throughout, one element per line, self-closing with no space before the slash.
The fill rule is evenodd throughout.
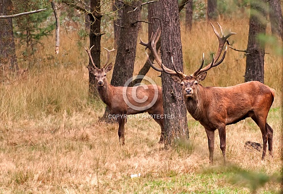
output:
<path id="1" fill-rule="evenodd" d="M 120 32 L 123 26 L 121 16 L 123 15 L 123 3 L 121 1 L 115 0 L 112 6 L 113 12 L 115 12 L 116 18 L 114 19 L 114 48 L 117 49 L 119 39 L 120 39 Z"/>

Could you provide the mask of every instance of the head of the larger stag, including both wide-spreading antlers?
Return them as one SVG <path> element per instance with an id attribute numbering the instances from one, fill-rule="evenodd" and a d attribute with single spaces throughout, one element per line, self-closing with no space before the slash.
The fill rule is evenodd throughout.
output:
<path id="1" fill-rule="evenodd" d="M 216 67 L 217 65 L 219 65 L 223 62 L 225 55 L 226 55 L 227 46 L 226 46 L 226 49 L 223 53 L 222 58 L 218 61 L 218 59 L 220 58 L 221 53 L 223 51 L 223 47 L 224 47 L 226 42 L 227 42 L 227 44 L 229 44 L 227 39 L 230 36 L 236 34 L 236 33 L 233 33 L 233 32 L 229 32 L 228 35 L 224 36 L 222 27 L 219 25 L 219 23 L 217 23 L 217 24 L 218 24 L 218 26 L 221 30 L 222 36 L 219 35 L 219 33 L 216 31 L 215 27 L 211 24 L 213 31 L 216 34 L 218 41 L 219 41 L 218 51 L 217 51 L 216 56 L 213 55 L 212 62 L 210 64 L 208 64 L 206 67 L 203 68 L 203 64 L 204 64 L 204 55 L 203 55 L 202 64 L 201 64 L 200 68 L 197 69 L 193 74 L 191 74 L 189 76 L 187 76 L 186 74 L 176 70 L 174 62 L 173 62 L 173 57 L 171 57 L 171 60 L 172 60 L 174 70 L 171 70 L 171 69 L 165 67 L 162 64 L 161 59 L 158 57 L 157 51 L 156 51 L 156 42 L 160 37 L 160 29 L 158 29 L 157 32 L 154 35 L 151 35 L 151 38 L 150 38 L 148 43 L 145 43 L 142 40 L 140 40 L 139 43 L 146 46 L 146 48 L 149 48 L 150 51 L 153 52 L 153 55 L 154 55 L 154 58 L 155 58 L 157 64 L 159 65 L 159 67 L 161 67 L 161 68 L 157 68 L 157 67 L 153 66 L 153 64 L 151 63 L 151 60 L 149 59 L 148 54 L 146 53 L 146 55 L 148 57 L 148 61 L 149 61 L 150 65 L 153 69 L 155 69 L 156 71 L 159 71 L 159 72 L 165 72 L 165 73 L 169 74 L 174 82 L 182 85 L 184 96 L 194 97 L 194 94 L 196 94 L 196 91 L 197 91 L 198 83 L 200 81 L 203 81 L 206 78 L 207 71 L 209 69 L 211 69 L 212 67 Z"/>

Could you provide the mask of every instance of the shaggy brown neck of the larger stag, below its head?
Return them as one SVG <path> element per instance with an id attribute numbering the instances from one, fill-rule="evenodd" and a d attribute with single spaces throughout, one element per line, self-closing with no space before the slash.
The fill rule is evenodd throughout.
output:
<path id="1" fill-rule="evenodd" d="M 185 97 L 185 104 L 189 114 L 196 120 L 203 118 L 205 114 L 206 92 L 205 87 L 199 84 L 192 97 Z"/>

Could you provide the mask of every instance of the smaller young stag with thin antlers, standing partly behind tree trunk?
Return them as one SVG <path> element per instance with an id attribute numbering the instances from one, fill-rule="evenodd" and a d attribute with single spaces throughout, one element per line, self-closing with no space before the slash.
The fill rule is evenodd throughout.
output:
<path id="1" fill-rule="evenodd" d="M 102 101 L 109 107 L 110 114 L 117 118 L 119 129 L 118 136 L 122 145 L 125 144 L 124 126 L 127 122 L 128 115 L 148 112 L 161 127 L 161 136 L 159 143 L 164 141 L 164 124 L 163 124 L 163 98 L 160 86 L 140 85 L 134 87 L 114 87 L 106 78 L 106 73 L 112 69 L 112 63 L 108 64 L 110 52 L 107 50 L 107 61 L 105 65 L 98 69 L 94 65 L 91 56 L 92 48 L 87 51 L 92 65 L 88 65 L 89 72 L 94 75 L 96 88 Z"/>

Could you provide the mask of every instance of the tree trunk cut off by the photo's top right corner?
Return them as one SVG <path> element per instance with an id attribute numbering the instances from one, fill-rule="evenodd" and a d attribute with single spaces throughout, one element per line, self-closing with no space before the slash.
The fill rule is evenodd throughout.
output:
<path id="1" fill-rule="evenodd" d="M 269 18 L 271 23 L 271 32 L 283 40 L 283 18 L 280 0 L 268 1 L 270 5 Z"/>

